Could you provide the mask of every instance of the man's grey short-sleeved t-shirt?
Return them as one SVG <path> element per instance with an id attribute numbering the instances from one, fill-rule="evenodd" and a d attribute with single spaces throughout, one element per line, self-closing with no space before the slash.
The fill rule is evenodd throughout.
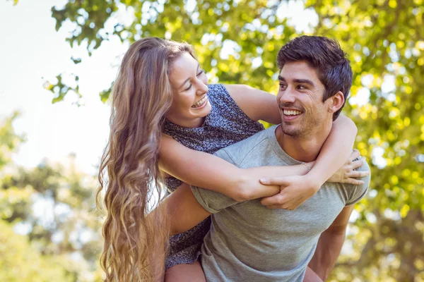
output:
<path id="1" fill-rule="evenodd" d="M 300 164 L 285 154 L 274 125 L 216 152 L 240 168 Z M 360 168 L 369 171 L 367 164 Z M 268 209 L 260 199 L 236 202 L 218 192 L 192 187 L 194 196 L 212 213 L 211 230 L 201 247 L 208 281 L 302 281 L 319 235 L 341 210 L 367 192 L 363 185 L 324 183 L 295 211 Z"/>

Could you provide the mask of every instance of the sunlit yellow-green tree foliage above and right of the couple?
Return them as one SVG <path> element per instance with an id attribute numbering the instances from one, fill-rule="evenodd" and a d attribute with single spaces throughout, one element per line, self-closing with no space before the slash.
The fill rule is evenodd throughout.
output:
<path id="1" fill-rule="evenodd" d="M 57 30 L 66 20 L 75 25 L 69 44 L 87 43 L 89 54 L 112 37 L 122 42 L 147 36 L 184 40 L 194 46 L 211 82 L 245 83 L 276 93 L 276 52 L 302 34 L 293 19 L 282 16 L 293 3 L 69 0 L 52 8 L 52 16 Z M 337 39 L 351 59 L 354 81 L 345 113 L 358 125 L 355 146 L 372 169 L 370 193 L 355 207 L 346 255 L 331 279 L 423 281 L 423 0 L 304 4 L 308 15 L 317 17 L 315 23 L 311 16 L 305 32 Z M 119 20 L 119 12 L 131 23 Z M 54 102 L 69 90 L 78 91 L 63 83 L 48 87 L 56 94 Z M 109 93 L 100 93 L 102 101 Z M 43 185 L 56 191 L 59 184 L 51 184 Z"/>

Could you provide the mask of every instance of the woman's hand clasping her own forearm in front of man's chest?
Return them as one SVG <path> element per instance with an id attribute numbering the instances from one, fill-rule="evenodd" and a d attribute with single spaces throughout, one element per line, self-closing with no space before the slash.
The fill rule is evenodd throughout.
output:
<path id="1" fill-rule="evenodd" d="M 315 195 L 322 183 L 316 183 L 306 176 L 285 176 L 261 179 L 265 185 L 280 185 L 277 195 L 264 197 L 261 203 L 269 209 L 294 210 L 303 202 Z"/>

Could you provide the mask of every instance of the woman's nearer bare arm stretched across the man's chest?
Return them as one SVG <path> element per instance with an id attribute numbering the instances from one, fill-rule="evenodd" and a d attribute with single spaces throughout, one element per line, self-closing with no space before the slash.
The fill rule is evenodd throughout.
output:
<path id="1" fill-rule="evenodd" d="M 259 182 L 261 178 L 302 176 L 307 173 L 304 165 L 237 168 L 212 154 L 184 147 L 167 135 L 163 135 L 160 142 L 159 166 L 185 183 L 220 192 L 238 202 L 280 192 L 279 185 L 263 185 Z"/>

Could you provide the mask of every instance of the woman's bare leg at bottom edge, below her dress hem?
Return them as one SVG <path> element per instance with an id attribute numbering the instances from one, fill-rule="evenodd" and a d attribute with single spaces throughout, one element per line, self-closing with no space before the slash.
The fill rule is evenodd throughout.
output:
<path id="1" fill-rule="evenodd" d="M 165 272 L 165 282 L 206 282 L 199 261 L 194 264 L 177 264 Z"/>

